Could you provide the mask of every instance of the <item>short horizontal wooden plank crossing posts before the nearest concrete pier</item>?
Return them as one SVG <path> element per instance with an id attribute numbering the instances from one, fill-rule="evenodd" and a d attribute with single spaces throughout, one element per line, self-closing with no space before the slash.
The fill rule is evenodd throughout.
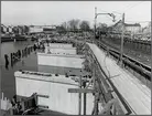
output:
<path id="1" fill-rule="evenodd" d="M 68 93 L 94 93 L 90 88 L 68 88 Z"/>

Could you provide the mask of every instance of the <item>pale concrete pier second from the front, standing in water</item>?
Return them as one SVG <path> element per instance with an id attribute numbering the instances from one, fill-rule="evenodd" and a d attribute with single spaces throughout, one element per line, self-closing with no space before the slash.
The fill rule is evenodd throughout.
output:
<path id="1" fill-rule="evenodd" d="M 75 67 L 83 68 L 83 62 L 78 55 L 51 55 L 37 53 L 37 64 L 39 65 L 52 65 L 52 66 L 63 66 L 63 67 Z"/>

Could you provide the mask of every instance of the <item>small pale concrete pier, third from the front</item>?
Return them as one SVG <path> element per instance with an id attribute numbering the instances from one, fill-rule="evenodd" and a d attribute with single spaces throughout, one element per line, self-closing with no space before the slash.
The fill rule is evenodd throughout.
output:
<path id="1" fill-rule="evenodd" d="M 62 48 L 45 46 L 45 53 L 48 53 L 48 51 L 52 54 L 75 54 L 76 55 L 76 48 L 62 49 Z"/>

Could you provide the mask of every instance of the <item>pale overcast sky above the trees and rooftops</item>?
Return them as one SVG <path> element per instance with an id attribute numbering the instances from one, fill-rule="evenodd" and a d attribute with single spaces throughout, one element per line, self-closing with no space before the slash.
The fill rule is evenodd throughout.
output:
<path id="1" fill-rule="evenodd" d="M 113 12 L 120 20 L 126 13 L 126 22 L 151 21 L 151 1 L 1 1 L 3 24 L 61 24 L 70 19 L 87 20 L 94 24 L 97 12 Z M 144 22 L 145 21 L 145 22 Z M 108 15 L 98 17 L 97 22 L 113 24 Z"/>

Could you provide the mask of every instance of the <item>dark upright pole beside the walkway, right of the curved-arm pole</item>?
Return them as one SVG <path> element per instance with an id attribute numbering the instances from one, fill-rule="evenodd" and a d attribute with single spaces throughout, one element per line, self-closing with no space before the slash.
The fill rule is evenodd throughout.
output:
<path id="1" fill-rule="evenodd" d="M 121 50 L 120 50 L 120 65 L 123 65 L 123 41 L 124 41 L 124 13 L 122 14 L 122 33 L 121 33 Z"/>

